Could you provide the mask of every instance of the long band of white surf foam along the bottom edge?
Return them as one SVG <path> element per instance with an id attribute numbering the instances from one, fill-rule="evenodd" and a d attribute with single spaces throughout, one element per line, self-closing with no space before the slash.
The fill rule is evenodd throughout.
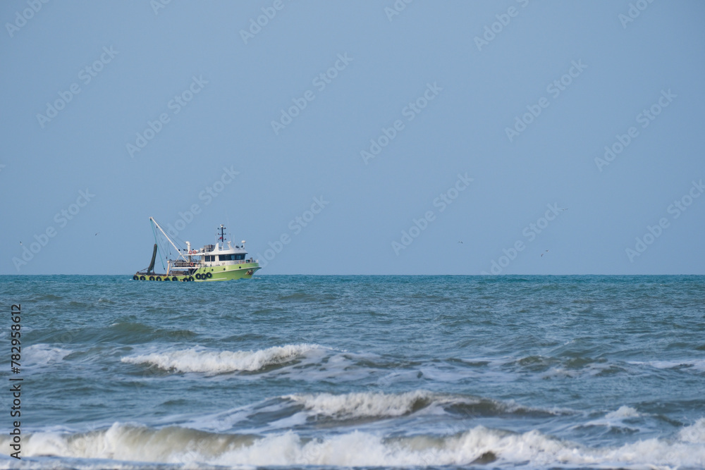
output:
<path id="1" fill-rule="evenodd" d="M 586 447 L 539 431 L 510 433 L 477 426 L 455 435 L 388 438 L 355 431 L 303 438 L 288 431 L 257 437 L 204 433 L 170 426 L 153 429 L 115 423 L 80 434 L 25 435 L 23 457 L 54 455 L 118 461 L 216 465 L 441 466 L 476 459 L 530 466 L 691 466 L 705 465 L 705 419 L 673 439 L 640 440 L 621 447 Z M 0 436 L 1 452 L 8 438 Z"/>

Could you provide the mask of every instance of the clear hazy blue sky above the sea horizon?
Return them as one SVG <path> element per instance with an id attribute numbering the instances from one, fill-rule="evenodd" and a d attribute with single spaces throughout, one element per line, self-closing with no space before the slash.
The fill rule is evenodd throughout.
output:
<path id="1" fill-rule="evenodd" d="M 131 275 L 154 216 L 262 274 L 703 274 L 704 18 L 4 1 L 0 273 Z"/>

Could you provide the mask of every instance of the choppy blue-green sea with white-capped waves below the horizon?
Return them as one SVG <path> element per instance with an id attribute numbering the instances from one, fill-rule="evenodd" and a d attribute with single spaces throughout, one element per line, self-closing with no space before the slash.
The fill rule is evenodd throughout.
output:
<path id="1" fill-rule="evenodd" d="M 705 468 L 705 276 L 0 276 L 0 300 L 4 469 Z"/>

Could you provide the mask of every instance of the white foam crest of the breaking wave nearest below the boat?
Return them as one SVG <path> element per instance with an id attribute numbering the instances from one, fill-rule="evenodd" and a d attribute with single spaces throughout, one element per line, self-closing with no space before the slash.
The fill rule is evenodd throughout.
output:
<path id="1" fill-rule="evenodd" d="M 212 351 L 199 348 L 154 352 L 123 357 L 128 364 L 151 364 L 164 370 L 179 372 L 225 373 L 259 371 L 266 366 L 284 364 L 308 352 L 323 350 L 319 345 L 284 345 L 257 351 Z"/>

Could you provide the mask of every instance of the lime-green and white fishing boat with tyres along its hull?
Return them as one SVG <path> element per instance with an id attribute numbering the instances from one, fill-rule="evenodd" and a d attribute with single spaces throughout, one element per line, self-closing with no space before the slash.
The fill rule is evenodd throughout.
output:
<path id="1" fill-rule="evenodd" d="M 204 282 L 208 280 L 249 279 L 259 270 L 258 260 L 247 258 L 245 240 L 240 245 L 226 240 L 226 227 L 221 224 L 216 232 L 214 245 L 204 245 L 200 249 L 192 249 L 190 242 L 183 242 L 185 247 L 178 247 L 161 225 L 150 217 L 154 229 L 154 250 L 149 267 L 137 271 L 134 280 L 159 280 L 181 282 Z M 176 235 L 172 235 L 176 238 Z M 166 239 L 166 240 L 164 240 Z M 159 247 L 160 243 L 164 245 Z M 168 244 L 167 244 L 168 242 Z M 171 247 L 176 250 L 173 252 Z M 161 252 L 163 273 L 154 272 L 157 252 Z M 166 261 L 166 265 L 164 265 Z"/>

